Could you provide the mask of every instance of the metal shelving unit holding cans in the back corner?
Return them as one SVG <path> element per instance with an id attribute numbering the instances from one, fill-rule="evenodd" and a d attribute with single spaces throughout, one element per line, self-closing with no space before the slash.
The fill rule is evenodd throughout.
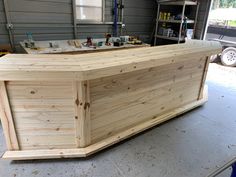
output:
<path id="1" fill-rule="evenodd" d="M 174 20 L 174 19 L 170 19 L 170 20 L 163 20 L 160 19 L 160 9 L 161 6 L 183 6 L 182 7 L 182 15 L 181 15 L 181 19 L 180 20 Z M 180 43 L 182 41 L 184 41 L 184 36 L 182 36 L 182 28 L 183 28 L 183 24 L 185 23 L 185 10 L 186 10 L 186 6 L 196 6 L 196 12 L 195 12 L 195 17 L 194 20 L 192 19 L 187 19 L 186 23 L 187 24 L 192 24 L 193 25 L 193 36 L 194 36 L 194 32 L 196 29 L 196 24 L 197 24 L 197 16 L 198 16 L 198 9 L 199 9 L 199 2 L 197 1 L 158 1 L 158 7 L 157 7 L 157 18 L 156 18 L 156 28 L 155 28 L 155 36 L 154 36 L 154 45 L 157 44 L 157 39 L 165 39 L 165 40 L 172 40 L 172 41 L 177 41 L 177 43 Z M 176 14 L 177 15 L 177 14 Z M 158 30 L 159 30 L 159 24 L 160 23 L 167 23 L 167 24 L 179 24 L 179 32 L 178 32 L 178 37 L 168 37 L 168 36 L 163 36 L 158 34 Z"/>

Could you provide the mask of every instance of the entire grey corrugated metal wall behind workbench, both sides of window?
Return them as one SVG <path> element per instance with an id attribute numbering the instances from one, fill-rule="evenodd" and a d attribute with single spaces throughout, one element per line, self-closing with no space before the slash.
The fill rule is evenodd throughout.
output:
<path id="1" fill-rule="evenodd" d="M 105 21 L 113 21 L 112 0 L 106 0 Z M 26 38 L 26 32 L 32 32 L 35 40 L 72 39 L 73 13 L 72 0 L 8 0 L 9 11 L 14 25 L 14 38 L 18 43 Z M 201 0 L 197 36 L 200 37 L 205 14 L 205 4 Z M 154 27 L 156 17 L 155 0 L 125 0 L 124 1 L 124 33 L 139 35 L 146 42 Z M 9 43 L 5 28 L 3 0 L 0 0 L 0 44 Z M 104 37 L 104 33 L 112 33 L 112 25 L 78 25 L 78 37 Z"/>

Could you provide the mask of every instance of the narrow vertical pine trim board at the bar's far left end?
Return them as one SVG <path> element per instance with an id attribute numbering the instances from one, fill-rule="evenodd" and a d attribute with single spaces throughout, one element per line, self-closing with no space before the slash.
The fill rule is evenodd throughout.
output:
<path id="1" fill-rule="evenodd" d="M 14 121 L 4 81 L 0 81 L 0 118 L 8 150 L 19 150 Z"/>

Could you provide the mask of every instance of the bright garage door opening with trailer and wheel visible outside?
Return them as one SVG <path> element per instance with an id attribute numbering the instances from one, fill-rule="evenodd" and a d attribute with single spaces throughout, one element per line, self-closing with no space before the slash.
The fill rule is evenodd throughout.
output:
<path id="1" fill-rule="evenodd" d="M 214 56 L 226 66 L 236 66 L 236 1 L 213 0 L 208 17 L 206 40 L 219 41 L 223 52 Z"/>

